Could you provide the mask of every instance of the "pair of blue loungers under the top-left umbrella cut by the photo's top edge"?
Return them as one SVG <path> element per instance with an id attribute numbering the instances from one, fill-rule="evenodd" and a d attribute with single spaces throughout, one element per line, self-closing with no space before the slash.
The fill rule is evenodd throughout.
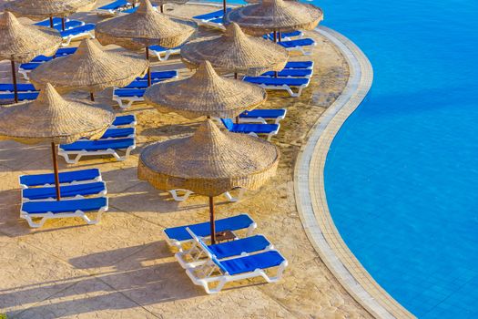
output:
<path id="1" fill-rule="evenodd" d="M 36 23 L 37 26 L 50 26 L 49 20 L 44 20 Z M 62 21 L 60 18 L 55 17 L 53 19 L 53 27 L 60 32 L 63 38 L 62 46 L 69 46 L 71 41 L 79 39 L 80 37 L 89 36 L 92 39 L 95 38 L 93 30 L 95 30 L 95 24 L 86 24 L 80 20 L 66 20 L 65 30 L 63 30 Z"/>

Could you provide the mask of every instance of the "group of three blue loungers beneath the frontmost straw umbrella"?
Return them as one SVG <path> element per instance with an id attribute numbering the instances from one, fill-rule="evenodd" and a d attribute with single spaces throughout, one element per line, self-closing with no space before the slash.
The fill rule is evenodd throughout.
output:
<path id="1" fill-rule="evenodd" d="M 240 214 L 216 221 L 217 232 L 234 234 L 231 242 L 205 242 L 210 238 L 209 222 L 168 228 L 164 233 L 168 244 L 178 249 L 175 257 L 192 282 L 206 293 L 219 293 L 229 282 L 255 277 L 268 283 L 280 280 L 288 262 L 266 237 L 253 234 L 256 228 L 248 214 Z M 245 235 L 239 237 L 237 232 Z"/>

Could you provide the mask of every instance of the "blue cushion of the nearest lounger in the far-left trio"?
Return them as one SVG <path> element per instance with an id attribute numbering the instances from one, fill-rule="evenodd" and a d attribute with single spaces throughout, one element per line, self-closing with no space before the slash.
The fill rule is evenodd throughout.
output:
<path id="1" fill-rule="evenodd" d="M 41 214 L 46 212 L 62 213 L 75 211 L 99 211 L 107 206 L 104 197 L 71 200 L 71 201 L 27 201 L 22 204 L 22 211 L 29 214 Z"/>

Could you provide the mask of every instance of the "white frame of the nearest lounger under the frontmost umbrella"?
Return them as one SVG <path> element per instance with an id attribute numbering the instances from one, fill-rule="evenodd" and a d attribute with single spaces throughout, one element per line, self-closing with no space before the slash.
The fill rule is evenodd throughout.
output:
<path id="1" fill-rule="evenodd" d="M 216 263 L 212 262 L 212 260 L 208 260 L 208 262 L 205 262 L 198 267 L 191 267 L 186 269 L 186 273 L 194 284 L 202 286 L 206 293 L 211 294 L 219 293 L 226 283 L 255 278 L 259 276 L 264 278 L 268 283 L 277 283 L 282 278 L 282 273 L 284 273 L 284 270 L 287 265 L 287 260 L 281 262 L 280 265 L 277 267 L 277 273 L 275 276 L 270 276 L 263 269 L 256 269 L 255 271 L 250 273 L 239 273 L 235 275 L 230 275 L 229 273 L 213 275 L 213 273 L 215 272 L 220 273 L 220 270 Z M 201 273 L 200 277 L 197 276 L 195 273 Z M 210 283 L 218 283 L 218 285 L 215 288 L 210 288 Z"/>

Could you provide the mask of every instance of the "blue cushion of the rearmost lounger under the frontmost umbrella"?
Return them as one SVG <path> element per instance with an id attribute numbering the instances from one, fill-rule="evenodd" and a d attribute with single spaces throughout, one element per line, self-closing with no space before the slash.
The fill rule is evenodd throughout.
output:
<path id="1" fill-rule="evenodd" d="M 247 229 L 250 225 L 254 224 L 247 214 L 240 214 L 216 221 L 216 232 L 225 231 L 239 231 Z M 186 228 L 189 228 L 191 232 L 194 232 L 198 237 L 210 236 L 210 224 L 209 222 L 201 222 L 193 225 L 179 226 L 167 228 L 164 232 L 171 240 L 178 242 L 189 241 L 192 239 Z"/>

